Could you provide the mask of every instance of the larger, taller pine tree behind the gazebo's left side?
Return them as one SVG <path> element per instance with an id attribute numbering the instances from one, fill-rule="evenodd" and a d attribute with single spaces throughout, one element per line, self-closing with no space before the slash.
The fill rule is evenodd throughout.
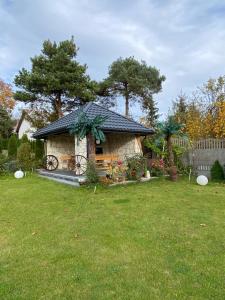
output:
<path id="1" fill-rule="evenodd" d="M 42 53 L 31 58 L 31 70 L 15 77 L 17 100 L 50 106 L 55 119 L 75 105 L 95 99 L 96 83 L 86 74 L 87 66 L 76 60 L 78 48 L 71 40 L 44 41 Z"/>

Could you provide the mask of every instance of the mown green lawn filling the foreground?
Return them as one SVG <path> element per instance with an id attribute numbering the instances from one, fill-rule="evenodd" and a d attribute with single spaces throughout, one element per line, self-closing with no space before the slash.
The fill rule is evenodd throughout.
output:
<path id="1" fill-rule="evenodd" d="M 224 184 L 0 191 L 0 299 L 224 299 Z"/>

